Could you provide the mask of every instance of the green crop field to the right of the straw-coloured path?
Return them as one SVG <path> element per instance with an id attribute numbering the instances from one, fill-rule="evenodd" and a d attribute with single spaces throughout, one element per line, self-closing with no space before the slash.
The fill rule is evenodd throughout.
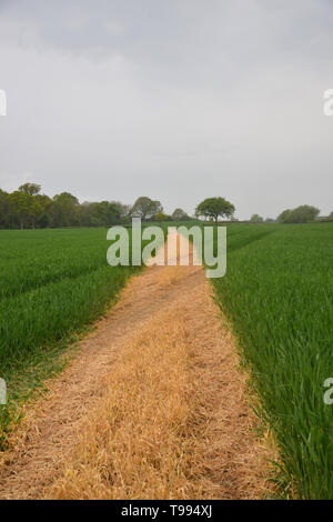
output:
<path id="1" fill-rule="evenodd" d="M 333 225 L 232 225 L 212 280 L 273 429 L 285 494 L 333 498 Z"/>

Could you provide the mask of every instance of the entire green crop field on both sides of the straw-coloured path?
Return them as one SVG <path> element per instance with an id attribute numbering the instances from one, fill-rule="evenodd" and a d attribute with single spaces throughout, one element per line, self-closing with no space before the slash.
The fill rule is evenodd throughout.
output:
<path id="1" fill-rule="evenodd" d="M 138 268 L 107 264 L 105 229 L 0 231 L 0 244 L 4 440 L 16 405 L 61 368 L 63 349 Z M 333 405 L 323 400 L 333 377 L 332 259 L 331 223 L 231 224 L 226 274 L 211 280 L 275 435 L 286 496 L 333 498 Z"/>

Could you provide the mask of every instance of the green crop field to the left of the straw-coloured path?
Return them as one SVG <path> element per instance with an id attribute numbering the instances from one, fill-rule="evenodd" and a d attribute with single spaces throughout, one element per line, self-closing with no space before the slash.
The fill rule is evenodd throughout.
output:
<path id="1" fill-rule="evenodd" d="M 0 231 L 0 442 L 14 406 L 58 371 L 63 348 L 138 268 L 109 267 L 107 229 Z M 1 436 L 2 431 L 2 436 Z"/>

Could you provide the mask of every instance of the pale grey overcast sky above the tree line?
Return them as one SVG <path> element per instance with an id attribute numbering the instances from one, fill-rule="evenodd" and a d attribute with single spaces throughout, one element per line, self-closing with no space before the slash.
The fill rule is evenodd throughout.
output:
<path id="1" fill-rule="evenodd" d="M 0 0 L 0 188 L 333 210 L 331 0 Z"/>

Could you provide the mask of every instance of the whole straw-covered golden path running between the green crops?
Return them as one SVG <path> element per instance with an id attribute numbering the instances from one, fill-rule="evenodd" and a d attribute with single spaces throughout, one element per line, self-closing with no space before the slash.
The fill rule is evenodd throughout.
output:
<path id="1" fill-rule="evenodd" d="M 48 382 L 0 455 L 1 499 L 254 499 L 245 375 L 201 267 L 152 267 Z"/>

